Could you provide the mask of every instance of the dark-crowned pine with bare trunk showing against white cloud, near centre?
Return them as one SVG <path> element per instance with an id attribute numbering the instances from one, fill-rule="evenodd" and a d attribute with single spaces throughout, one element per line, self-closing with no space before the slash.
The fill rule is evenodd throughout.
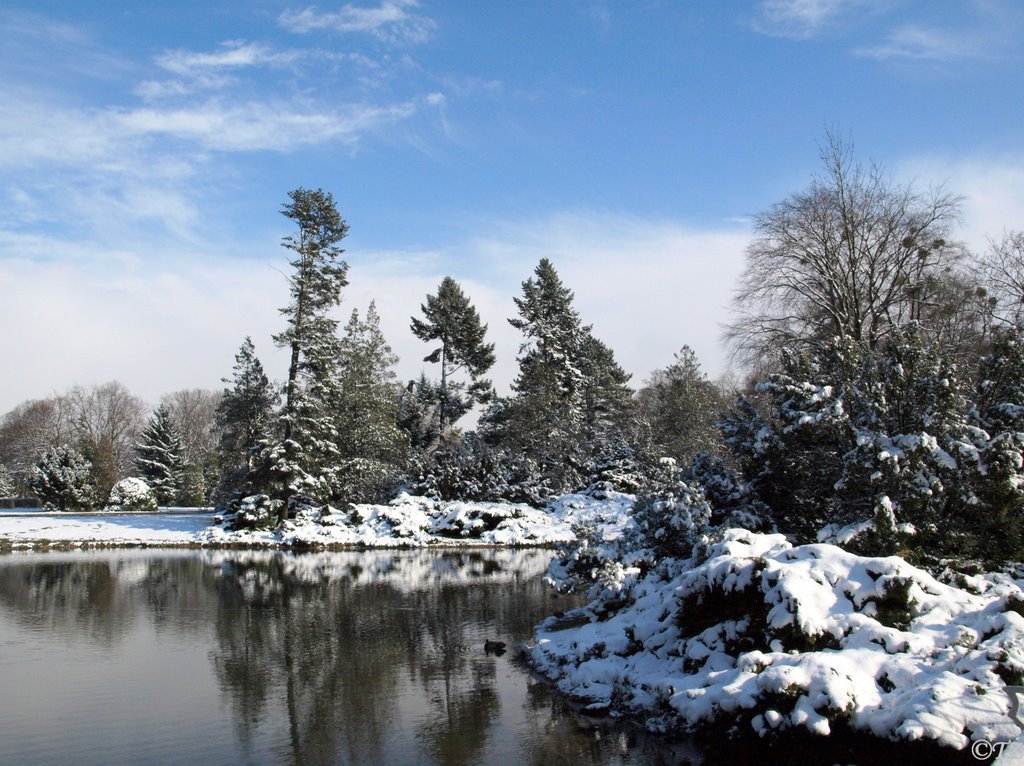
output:
<path id="1" fill-rule="evenodd" d="M 423 360 L 440 364 L 441 382 L 437 399 L 438 438 L 445 429 L 467 413 L 474 403 L 483 401 L 490 392 L 490 381 L 481 375 L 495 364 L 495 344 L 484 343 L 487 326 L 480 324 L 480 315 L 451 276 L 445 276 L 437 288 L 437 295 L 428 295 L 420 309 L 426 322 L 412 317 L 413 334 L 422 341 L 440 341 L 440 346 Z M 468 390 L 465 383 L 457 383 L 452 376 L 459 372 L 469 375 Z"/>

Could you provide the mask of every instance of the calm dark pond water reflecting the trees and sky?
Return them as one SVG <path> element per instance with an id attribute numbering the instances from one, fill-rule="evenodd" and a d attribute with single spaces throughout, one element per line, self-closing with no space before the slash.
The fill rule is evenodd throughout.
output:
<path id="1" fill-rule="evenodd" d="M 688 762 L 509 647 L 549 551 L 0 556 L 3 764 Z"/>

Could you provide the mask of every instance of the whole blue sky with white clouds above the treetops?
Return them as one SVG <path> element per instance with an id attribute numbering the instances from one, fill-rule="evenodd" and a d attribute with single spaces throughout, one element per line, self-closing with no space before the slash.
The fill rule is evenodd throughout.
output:
<path id="1" fill-rule="evenodd" d="M 752 219 L 828 130 L 963 197 L 981 250 L 1024 227 L 1019 0 L 6 0 L 0 414 L 120 380 L 220 388 L 288 301 L 288 192 L 350 230 L 338 317 L 410 317 L 458 280 L 497 345 L 542 257 L 639 385 L 684 344 L 711 377 Z"/>

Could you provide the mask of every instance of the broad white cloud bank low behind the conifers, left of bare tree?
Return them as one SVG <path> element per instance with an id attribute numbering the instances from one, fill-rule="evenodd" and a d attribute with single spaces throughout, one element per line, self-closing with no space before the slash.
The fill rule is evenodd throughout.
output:
<path id="1" fill-rule="evenodd" d="M 512 298 L 546 256 L 575 292 L 584 322 L 634 373 L 634 384 L 669 364 L 684 343 L 710 374 L 724 369 L 719 323 L 741 266 L 744 233 L 601 214 L 499 223 L 493 230 L 445 253 L 348 253 L 351 284 L 338 320 L 344 325 L 352 308 L 362 312 L 376 300 L 401 358 L 401 379 L 424 369 L 433 375 L 422 361 L 430 349 L 413 337 L 409 322 L 451 274 L 489 326 L 498 353 L 492 376 L 507 391 L 521 341 L 508 324 Z M 173 246 L 156 254 L 130 245 L 108 252 L 0 237 L 0 292 L 9 297 L 0 303 L 0 325 L 16 329 L 0 335 L 0 358 L 18 366 L 0 387 L 0 413 L 75 383 L 111 379 L 150 401 L 177 388 L 216 388 L 246 335 L 268 373 L 284 377 L 287 358 L 270 343 L 282 329 L 278 308 L 288 300 L 278 270 L 284 256 L 276 243 L 265 247 L 265 258 L 255 261 L 203 253 L 183 259 Z"/>

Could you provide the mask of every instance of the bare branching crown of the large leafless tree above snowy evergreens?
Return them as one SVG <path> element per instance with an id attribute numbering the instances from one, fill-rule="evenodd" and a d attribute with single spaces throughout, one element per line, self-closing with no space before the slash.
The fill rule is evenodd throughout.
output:
<path id="1" fill-rule="evenodd" d="M 807 190 L 756 219 L 727 329 L 746 360 L 835 336 L 873 348 L 902 324 L 927 324 L 955 270 L 957 198 L 888 181 L 833 133 L 821 160 Z"/>

